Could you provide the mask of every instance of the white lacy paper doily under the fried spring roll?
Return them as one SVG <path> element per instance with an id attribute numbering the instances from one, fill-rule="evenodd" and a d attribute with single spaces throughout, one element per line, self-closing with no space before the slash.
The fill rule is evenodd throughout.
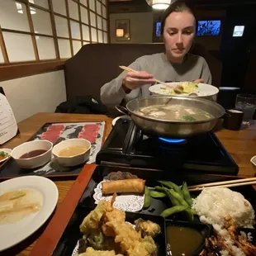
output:
<path id="1" fill-rule="evenodd" d="M 97 187 L 94 189 L 93 198 L 95 203 L 98 204 L 99 201 L 111 201 L 113 195 L 104 197 L 102 195 L 102 183 L 109 182 L 109 180 L 105 179 L 101 183 L 97 184 Z M 144 205 L 144 194 L 140 195 L 118 195 L 116 200 L 114 201 L 113 206 L 121 211 L 140 211 Z"/>

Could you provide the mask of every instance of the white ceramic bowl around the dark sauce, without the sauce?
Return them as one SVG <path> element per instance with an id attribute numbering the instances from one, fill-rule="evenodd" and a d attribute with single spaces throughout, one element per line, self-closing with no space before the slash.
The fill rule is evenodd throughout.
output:
<path id="1" fill-rule="evenodd" d="M 21 155 L 38 149 L 45 149 L 47 151 L 30 159 L 20 159 Z M 53 144 L 49 140 L 33 140 L 14 148 L 11 156 L 16 160 L 20 168 L 37 168 L 50 162 L 52 149 Z"/>

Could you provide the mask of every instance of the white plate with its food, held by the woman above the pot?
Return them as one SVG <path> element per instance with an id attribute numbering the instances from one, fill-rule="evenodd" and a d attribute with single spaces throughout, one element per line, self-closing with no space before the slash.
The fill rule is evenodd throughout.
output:
<path id="1" fill-rule="evenodd" d="M 157 83 L 149 91 L 154 95 L 212 98 L 218 94 L 219 89 L 207 83 L 178 82 L 167 85 Z"/>

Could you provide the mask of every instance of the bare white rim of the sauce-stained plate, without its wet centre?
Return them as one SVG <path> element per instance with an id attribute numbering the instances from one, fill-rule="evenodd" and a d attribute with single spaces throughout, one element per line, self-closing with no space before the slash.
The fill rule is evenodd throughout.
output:
<path id="1" fill-rule="evenodd" d="M 49 178 L 39 176 L 12 178 L 0 183 L 0 195 L 22 188 L 33 188 L 40 192 L 43 197 L 40 211 L 27 216 L 17 223 L 0 225 L 0 251 L 10 248 L 32 235 L 48 220 L 55 210 L 59 192 L 55 183 Z"/>

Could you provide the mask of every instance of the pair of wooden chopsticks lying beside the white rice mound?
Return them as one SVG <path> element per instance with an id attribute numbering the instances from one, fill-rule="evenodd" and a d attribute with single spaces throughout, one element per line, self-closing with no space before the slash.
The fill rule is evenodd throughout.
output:
<path id="1" fill-rule="evenodd" d="M 256 178 L 241 178 L 237 180 L 231 180 L 226 182 L 219 183 L 205 183 L 194 186 L 189 186 L 189 191 L 201 191 L 205 187 L 240 187 L 245 185 L 254 185 L 256 184 Z"/>

